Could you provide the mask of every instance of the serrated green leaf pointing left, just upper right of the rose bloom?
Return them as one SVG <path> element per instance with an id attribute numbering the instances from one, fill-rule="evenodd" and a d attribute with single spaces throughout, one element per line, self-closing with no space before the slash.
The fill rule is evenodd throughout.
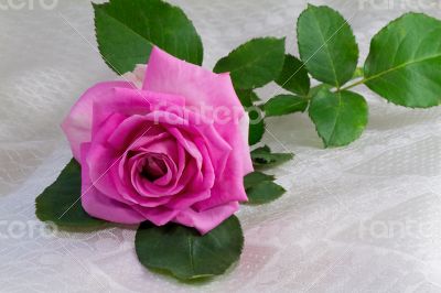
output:
<path id="1" fill-rule="evenodd" d="M 250 89 L 275 80 L 283 66 L 284 39 L 254 39 L 219 59 L 215 73 L 229 72 L 236 88 Z"/>

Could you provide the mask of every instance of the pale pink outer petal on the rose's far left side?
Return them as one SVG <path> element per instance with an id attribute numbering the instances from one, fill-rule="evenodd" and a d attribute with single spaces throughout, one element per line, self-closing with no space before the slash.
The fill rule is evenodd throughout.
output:
<path id="1" fill-rule="evenodd" d="M 93 104 L 103 93 L 111 88 L 133 88 L 133 84 L 126 82 L 99 83 L 87 89 L 72 107 L 71 112 L 64 119 L 62 129 L 71 143 L 72 152 L 79 162 L 80 144 L 90 141 Z"/>

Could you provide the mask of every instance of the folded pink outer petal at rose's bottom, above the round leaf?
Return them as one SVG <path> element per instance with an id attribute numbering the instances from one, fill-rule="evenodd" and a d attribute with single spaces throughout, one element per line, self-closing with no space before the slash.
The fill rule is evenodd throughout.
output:
<path id="1" fill-rule="evenodd" d="M 239 209 L 237 202 L 232 202 L 204 211 L 187 208 L 181 211 L 173 221 L 196 228 L 202 235 L 208 232 Z"/>

